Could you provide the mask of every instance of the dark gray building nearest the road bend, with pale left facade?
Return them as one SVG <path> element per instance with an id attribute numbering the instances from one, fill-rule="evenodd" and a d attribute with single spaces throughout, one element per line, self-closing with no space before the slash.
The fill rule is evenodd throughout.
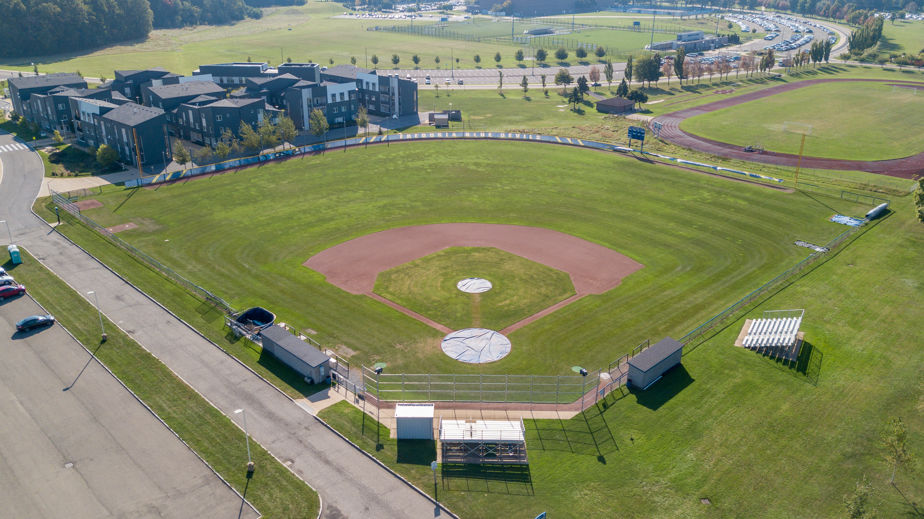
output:
<path id="1" fill-rule="evenodd" d="M 170 158 L 166 114 L 160 108 L 138 103 L 122 105 L 71 97 L 73 129 L 84 146 L 103 144 L 118 151 L 123 163 L 163 163 Z"/>

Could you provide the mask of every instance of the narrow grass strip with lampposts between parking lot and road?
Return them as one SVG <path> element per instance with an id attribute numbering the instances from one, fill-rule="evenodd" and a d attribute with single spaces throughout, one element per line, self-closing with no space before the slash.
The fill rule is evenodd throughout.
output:
<path id="1" fill-rule="evenodd" d="M 241 462 L 247 459 L 243 431 L 105 317 L 109 337 L 101 343 L 96 308 L 22 247 L 19 250 L 23 262 L 7 261 L 3 267 L 218 474 L 238 492 L 246 487 L 247 499 L 263 517 L 317 517 L 318 494 L 255 442 L 250 442 L 250 451 L 258 471 L 248 482 Z"/>

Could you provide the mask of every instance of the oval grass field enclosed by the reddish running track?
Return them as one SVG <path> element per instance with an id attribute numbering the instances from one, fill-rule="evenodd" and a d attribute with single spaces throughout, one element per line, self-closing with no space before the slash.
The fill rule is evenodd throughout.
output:
<path id="1" fill-rule="evenodd" d="M 690 117 L 680 128 L 722 142 L 761 142 L 767 150 L 798 153 L 802 135 L 784 132 L 783 124 L 803 123 L 812 125 L 805 155 L 877 161 L 924 151 L 913 129 L 922 116 L 920 95 L 893 93 L 886 84 L 828 83 Z"/>

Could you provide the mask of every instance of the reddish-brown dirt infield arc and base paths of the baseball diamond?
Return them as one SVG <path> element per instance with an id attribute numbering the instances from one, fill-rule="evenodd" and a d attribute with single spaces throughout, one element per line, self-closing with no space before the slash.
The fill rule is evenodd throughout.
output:
<path id="1" fill-rule="evenodd" d="M 379 272 L 449 247 L 495 247 L 571 276 L 571 284 L 577 292 L 575 296 L 506 327 L 501 331 L 504 334 L 583 296 L 602 294 L 645 266 L 611 248 L 577 236 L 541 227 L 499 223 L 431 223 L 388 229 L 326 248 L 303 265 L 321 272 L 327 277 L 327 283 L 350 294 L 365 294 L 448 333 L 452 331 L 442 324 L 373 293 L 372 288 Z"/>

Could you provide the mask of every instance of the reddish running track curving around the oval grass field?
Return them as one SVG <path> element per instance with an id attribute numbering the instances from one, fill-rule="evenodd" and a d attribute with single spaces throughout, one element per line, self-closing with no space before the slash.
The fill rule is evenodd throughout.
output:
<path id="1" fill-rule="evenodd" d="M 654 119 L 651 119 L 649 125 L 653 128 L 654 123 L 661 123 L 663 125 L 661 128 L 661 133 L 659 134 L 661 139 L 667 140 L 668 142 L 676 144 L 677 146 L 683 146 L 684 148 L 689 148 L 691 150 L 703 151 L 713 155 L 728 157 L 730 159 L 738 159 L 741 161 L 749 161 L 752 163 L 765 163 L 795 167 L 799 160 L 798 155 L 793 155 L 790 153 L 776 153 L 775 155 L 765 153 L 748 153 L 747 151 L 742 151 L 742 146 L 729 144 L 727 142 L 720 142 L 718 140 L 706 139 L 705 137 L 699 137 L 698 135 L 688 133 L 680 129 L 680 123 L 688 117 L 708 114 L 710 112 L 715 112 L 716 110 L 721 110 L 723 108 L 728 108 L 730 106 L 735 106 L 741 103 L 748 103 L 749 101 L 756 101 L 778 93 L 794 91 L 796 89 L 801 89 L 811 85 L 818 85 L 821 83 L 833 83 L 840 81 L 875 81 L 889 84 L 924 85 L 924 83 L 919 81 L 905 81 L 901 79 L 807 79 L 805 81 L 796 81 L 793 83 L 777 85 L 762 91 L 742 94 L 736 97 L 723 99 L 722 101 L 700 104 L 699 106 L 694 106 L 692 108 L 687 108 L 678 112 L 672 112 L 670 114 L 658 115 Z M 912 155 L 902 159 L 890 159 L 887 161 L 846 161 L 841 159 L 825 159 L 822 157 L 803 156 L 802 167 L 813 169 L 866 171 L 879 175 L 890 175 L 900 178 L 915 179 L 918 178 L 918 176 L 924 174 L 924 153 L 918 153 L 917 155 Z"/>

